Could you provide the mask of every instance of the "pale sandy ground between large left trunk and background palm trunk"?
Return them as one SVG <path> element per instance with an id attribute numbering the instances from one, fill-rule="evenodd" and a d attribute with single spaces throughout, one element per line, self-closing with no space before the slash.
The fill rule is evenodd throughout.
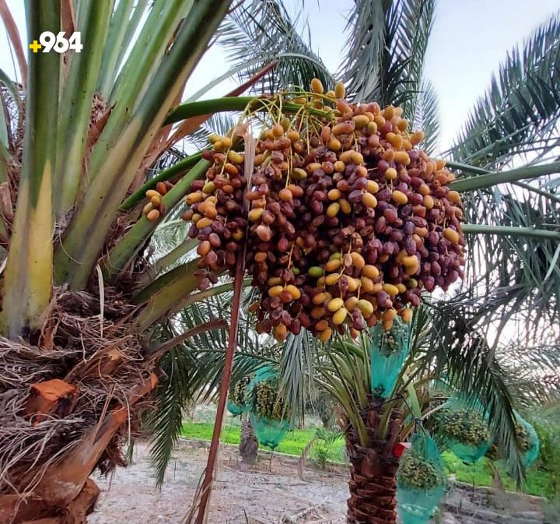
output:
<path id="1" fill-rule="evenodd" d="M 205 446 L 181 442 L 160 491 L 154 485 L 146 446 L 137 445 L 131 466 L 119 468 L 112 479 L 96 479 L 101 496 L 88 522 L 180 523 L 193 501 L 207 456 Z M 293 458 L 275 454 L 271 463 L 265 454 L 257 465 L 246 467 L 232 446 L 222 446 L 220 456 L 208 524 L 344 522 L 348 487 L 343 472 L 306 471 L 309 481 L 304 482 L 297 476 Z"/>

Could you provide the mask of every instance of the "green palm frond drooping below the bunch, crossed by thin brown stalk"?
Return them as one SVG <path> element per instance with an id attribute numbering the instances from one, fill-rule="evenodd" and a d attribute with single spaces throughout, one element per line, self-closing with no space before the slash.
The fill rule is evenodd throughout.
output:
<path id="1" fill-rule="evenodd" d="M 158 342 L 164 342 L 179 332 L 213 319 L 229 321 L 230 303 L 231 293 L 194 303 L 182 310 L 178 318 L 170 319 L 167 324 L 160 326 L 155 338 Z M 254 373 L 264 363 L 278 364 L 278 344 L 269 339 L 259 340 L 252 328 L 253 324 L 254 319 L 242 310 L 232 384 Z M 192 402 L 212 400 L 217 395 L 226 347 L 225 330 L 204 331 L 174 347 L 161 359 L 164 379 L 160 381 L 156 392 L 156 409 L 146 420 L 146 426 L 153 435 L 150 453 L 158 486 L 164 480 L 173 448 L 179 439 L 185 406 Z"/>

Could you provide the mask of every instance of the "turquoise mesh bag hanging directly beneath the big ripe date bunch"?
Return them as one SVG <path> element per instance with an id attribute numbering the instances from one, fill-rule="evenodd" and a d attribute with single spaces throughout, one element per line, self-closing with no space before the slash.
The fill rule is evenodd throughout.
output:
<path id="1" fill-rule="evenodd" d="M 391 331 L 385 331 L 382 324 L 377 324 L 371 335 L 371 391 L 388 398 L 410 353 L 410 325 L 396 318 Z"/>

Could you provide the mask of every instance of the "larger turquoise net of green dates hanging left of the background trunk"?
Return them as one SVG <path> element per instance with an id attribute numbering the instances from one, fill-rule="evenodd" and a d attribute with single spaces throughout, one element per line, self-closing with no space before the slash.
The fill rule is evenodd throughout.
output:
<path id="1" fill-rule="evenodd" d="M 249 420 L 256 438 L 274 450 L 290 430 L 290 414 L 278 396 L 278 371 L 260 368 L 246 388 Z"/>

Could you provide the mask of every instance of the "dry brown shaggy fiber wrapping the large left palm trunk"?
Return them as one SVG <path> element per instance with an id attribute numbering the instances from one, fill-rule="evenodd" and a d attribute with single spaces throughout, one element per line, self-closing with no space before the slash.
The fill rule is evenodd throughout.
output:
<path id="1" fill-rule="evenodd" d="M 129 334 L 127 325 L 115 322 L 134 307 L 114 289 L 105 291 L 110 299 L 105 301 L 103 337 L 99 299 L 64 289 L 55 293 L 50 318 L 36 337 L 41 349 L 0 337 L 0 494 L 32 490 L 105 413 L 124 408 L 132 422 L 137 407 L 146 407 L 146 402 L 139 402 L 129 414 L 127 406 L 130 392 L 146 382 L 154 364 L 144 360 L 141 340 Z M 57 387 L 49 386 L 53 379 Z M 41 390 L 48 392 L 52 406 L 30 404 L 34 400 L 30 393 L 41 395 Z M 30 412 L 30 405 L 35 412 Z M 110 439 L 97 461 L 105 474 L 123 463 L 120 441 L 127 425 Z"/>

